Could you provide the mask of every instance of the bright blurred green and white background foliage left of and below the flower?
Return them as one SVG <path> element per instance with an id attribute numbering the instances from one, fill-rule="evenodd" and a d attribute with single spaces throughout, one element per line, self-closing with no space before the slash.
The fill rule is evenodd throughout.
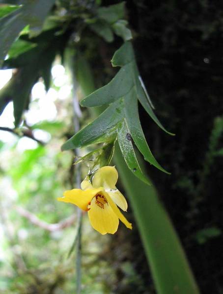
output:
<path id="1" fill-rule="evenodd" d="M 60 151 L 66 124 L 72 121 L 68 111 L 71 102 L 67 99 L 69 91 L 64 97 L 68 87 L 64 68 L 56 64 L 52 73 L 56 74 L 55 84 L 56 79 L 64 80 L 64 84 L 58 87 L 52 83 L 53 94 L 48 92 L 46 97 L 43 82 L 39 81 L 32 90 L 30 117 L 25 115 L 42 144 L 1 131 L 2 294 L 73 293 L 75 289 L 74 256 L 67 256 L 76 235 L 76 214 L 72 206 L 56 201 L 65 189 L 73 187 L 74 181 L 73 154 Z M 8 124 L 12 117 L 11 103 L 0 119 L 1 125 Z M 52 113 L 52 118 L 42 120 L 44 113 L 46 117 Z M 83 293 L 110 293 L 115 275 L 103 256 L 108 238 L 93 231 L 85 219 L 83 230 Z"/>

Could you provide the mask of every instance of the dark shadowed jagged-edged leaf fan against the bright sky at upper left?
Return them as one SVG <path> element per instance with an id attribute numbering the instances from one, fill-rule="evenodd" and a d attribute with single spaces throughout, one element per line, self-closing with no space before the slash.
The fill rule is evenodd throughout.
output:
<path id="1" fill-rule="evenodd" d="M 24 35 L 21 38 L 28 37 Z M 40 76 L 43 76 L 46 88 L 49 87 L 51 65 L 56 52 L 64 46 L 64 37 L 55 36 L 55 30 L 43 32 L 30 40 L 36 44 L 34 48 L 4 62 L 4 68 L 17 68 L 18 71 L 0 91 L 0 114 L 13 100 L 15 126 L 19 125 L 23 111 L 28 108 L 32 86 Z"/>

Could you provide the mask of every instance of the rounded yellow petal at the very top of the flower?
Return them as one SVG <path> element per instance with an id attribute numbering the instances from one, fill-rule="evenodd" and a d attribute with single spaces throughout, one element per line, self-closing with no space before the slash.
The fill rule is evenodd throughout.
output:
<path id="1" fill-rule="evenodd" d="M 115 167 L 103 167 L 95 172 L 92 180 L 92 185 L 94 188 L 104 187 L 105 189 L 115 187 L 118 180 L 118 172 Z"/>

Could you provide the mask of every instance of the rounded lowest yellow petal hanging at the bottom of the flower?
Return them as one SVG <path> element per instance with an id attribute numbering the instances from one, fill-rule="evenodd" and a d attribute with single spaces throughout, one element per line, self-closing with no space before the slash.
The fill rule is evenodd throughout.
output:
<path id="1" fill-rule="evenodd" d="M 104 208 L 102 208 L 96 204 L 96 198 L 94 197 L 89 208 L 88 217 L 96 231 L 102 235 L 114 234 L 117 231 L 119 220 L 108 203 L 105 203 Z"/>

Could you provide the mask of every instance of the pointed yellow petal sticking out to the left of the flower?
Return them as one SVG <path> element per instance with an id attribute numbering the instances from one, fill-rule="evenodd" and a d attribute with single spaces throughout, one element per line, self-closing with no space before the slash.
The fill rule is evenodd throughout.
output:
<path id="1" fill-rule="evenodd" d="M 63 197 L 57 198 L 58 201 L 68 202 L 77 205 L 79 208 L 87 211 L 87 206 L 91 199 L 99 192 L 101 192 L 103 188 L 98 189 L 72 189 L 65 191 L 63 193 Z"/>

